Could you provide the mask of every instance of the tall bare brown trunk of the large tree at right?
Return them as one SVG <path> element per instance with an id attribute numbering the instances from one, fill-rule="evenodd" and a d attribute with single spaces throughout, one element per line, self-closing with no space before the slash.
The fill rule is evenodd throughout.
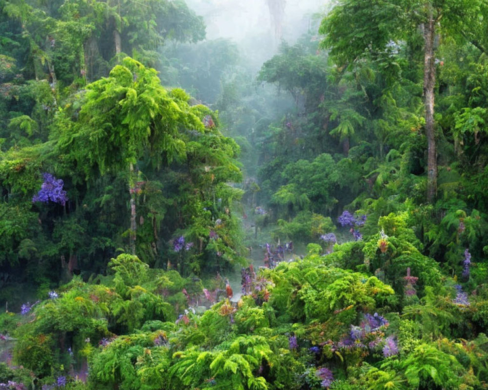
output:
<path id="1" fill-rule="evenodd" d="M 428 21 L 424 24 L 424 103 L 427 136 L 427 201 L 432 203 L 437 194 L 437 152 L 434 130 L 434 58 L 435 20 L 432 7 L 429 6 Z"/>

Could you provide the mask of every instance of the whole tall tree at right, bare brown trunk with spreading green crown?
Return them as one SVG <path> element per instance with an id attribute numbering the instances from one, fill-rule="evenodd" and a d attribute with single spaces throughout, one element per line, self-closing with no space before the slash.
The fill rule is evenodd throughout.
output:
<path id="1" fill-rule="evenodd" d="M 437 151 L 434 126 L 434 89 L 436 79 L 435 37 L 462 23 L 477 10 L 480 2 L 383 0 L 371 5 L 363 0 L 344 0 L 324 18 L 320 32 L 326 37 L 322 46 L 339 66 L 350 65 L 366 54 L 378 56 L 390 42 L 404 39 L 421 26 L 424 40 L 424 105 L 427 136 L 427 199 L 433 202 L 437 191 Z M 440 28 L 439 28 L 440 26 Z M 444 29 L 443 29 L 444 28 Z"/>

